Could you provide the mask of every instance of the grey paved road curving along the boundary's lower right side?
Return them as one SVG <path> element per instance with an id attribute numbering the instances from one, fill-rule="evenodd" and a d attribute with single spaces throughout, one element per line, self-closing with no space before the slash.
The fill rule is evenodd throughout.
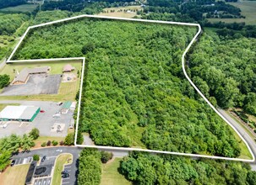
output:
<path id="1" fill-rule="evenodd" d="M 251 147 L 254 156 L 256 156 L 256 144 L 253 140 L 253 138 L 248 135 L 248 133 L 242 128 L 240 124 L 237 123 L 236 120 L 232 119 L 229 114 L 226 114 L 225 110 L 218 109 L 218 111 L 237 129 L 237 131 L 242 135 L 244 140 L 248 142 L 248 145 Z M 250 163 L 253 171 L 256 171 L 256 162 Z"/>

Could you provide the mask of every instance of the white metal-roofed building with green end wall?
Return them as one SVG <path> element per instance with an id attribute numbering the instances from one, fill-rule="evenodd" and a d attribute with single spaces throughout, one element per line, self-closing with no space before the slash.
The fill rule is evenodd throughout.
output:
<path id="1" fill-rule="evenodd" d="M 32 122 L 39 112 L 40 108 L 34 106 L 6 106 L 0 113 L 0 120 Z"/>

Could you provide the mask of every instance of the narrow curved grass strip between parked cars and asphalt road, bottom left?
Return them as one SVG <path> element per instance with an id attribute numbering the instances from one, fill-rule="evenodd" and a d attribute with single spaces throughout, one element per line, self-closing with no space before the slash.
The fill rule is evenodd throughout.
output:
<path id="1" fill-rule="evenodd" d="M 67 164 L 68 158 L 72 157 L 71 154 L 62 154 L 57 157 L 57 161 L 54 167 L 54 174 L 52 178 L 52 185 L 59 185 L 62 182 L 62 174 L 64 164 Z"/>

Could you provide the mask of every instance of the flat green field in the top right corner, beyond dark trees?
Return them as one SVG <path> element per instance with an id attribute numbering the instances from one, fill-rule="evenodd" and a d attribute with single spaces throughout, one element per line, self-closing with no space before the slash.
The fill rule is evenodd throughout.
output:
<path id="1" fill-rule="evenodd" d="M 256 24 L 256 1 L 241 1 L 238 3 L 230 3 L 231 5 L 240 8 L 242 15 L 246 18 L 208 18 L 210 22 L 219 22 L 223 21 L 226 23 L 242 23 L 246 24 Z"/>

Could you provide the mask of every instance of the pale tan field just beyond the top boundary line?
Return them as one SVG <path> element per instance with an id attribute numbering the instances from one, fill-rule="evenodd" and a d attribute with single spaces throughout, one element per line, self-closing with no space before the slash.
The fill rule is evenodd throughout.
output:
<path id="1" fill-rule="evenodd" d="M 133 18 L 137 15 L 136 10 L 141 10 L 140 6 L 129 6 L 129 7 L 118 7 L 118 8 L 104 8 L 103 12 L 99 15 L 111 16 L 111 17 L 120 17 L 120 18 Z M 111 12 L 111 11 L 115 12 Z M 122 12 L 120 10 L 123 10 Z M 125 13 L 124 10 L 130 10 L 130 13 Z M 135 10 L 135 12 L 133 12 Z"/>

